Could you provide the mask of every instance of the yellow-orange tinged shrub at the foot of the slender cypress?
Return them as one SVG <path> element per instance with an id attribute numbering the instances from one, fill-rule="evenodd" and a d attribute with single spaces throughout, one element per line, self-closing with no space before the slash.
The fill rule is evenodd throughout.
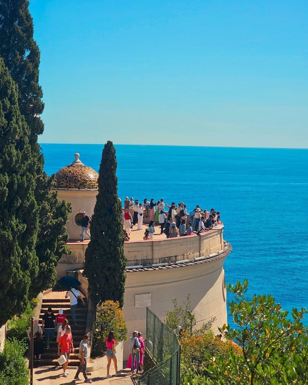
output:
<path id="1" fill-rule="evenodd" d="M 114 331 L 116 342 L 126 340 L 127 327 L 119 302 L 104 301 L 97 306 L 95 333 L 92 341 L 94 356 L 102 355 L 106 349 L 106 337 L 110 330 Z"/>

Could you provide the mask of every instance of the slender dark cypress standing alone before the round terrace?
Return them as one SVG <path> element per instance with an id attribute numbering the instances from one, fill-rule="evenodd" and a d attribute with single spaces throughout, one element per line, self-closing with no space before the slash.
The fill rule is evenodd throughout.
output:
<path id="1" fill-rule="evenodd" d="M 117 195 L 115 148 L 108 141 L 99 167 L 99 192 L 91 222 L 91 241 L 85 251 L 84 274 L 96 303 L 124 302 L 125 268 L 122 205 Z"/>

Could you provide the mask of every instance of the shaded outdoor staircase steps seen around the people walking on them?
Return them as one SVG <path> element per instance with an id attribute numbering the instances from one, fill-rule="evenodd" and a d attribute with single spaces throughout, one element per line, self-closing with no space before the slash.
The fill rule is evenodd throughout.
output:
<path id="1" fill-rule="evenodd" d="M 39 324 L 42 325 L 42 317 L 47 312 L 48 308 L 52 308 L 52 311 L 54 315 L 57 315 L 59 313 L 59 310 L 63 310 L 63 314 L 66 315 L 67 320 L 70 323 L 70 327 L 72 328 L 72 337 L 73 337 L 73 345 L 74 345 L 74 353 L 70 353 L 70 359 L 69 359 L 69 367 L 76 367 L 79 366 L 79 360 L 78 360 L 78 354 L 79 354 L 79 344 L 80 341 L 83 339 L 85 334 L 85 328 L 87 323 L 87 313 L 88 313 L 88 304 L 86 299 L 84 298 L 84 295 L 80 293 L 80 296 L 85 301 L 85 306 L 80 305 L 76 308 L 76 320 L 77 325 L 74 325 L 72 320 L 72 315 L 70 311 L 70 299 L 65 298 L 67 290 L 53 290 L 44 295 L 43 302 L 42 302 L 42 308 L 40 311 L 40 319 Z M 57 358 L 58 356 L 58 346 L 56 343 L 56 337 L 53 337 L 50 340 L 49 349 L 46 349 L 45 344 L 45 336 L 43 336 L 44 340 L 44 353 L 42 354 L 42 361 L 36 362 L 34 361 L 35 366 L 58 366 Z"/>

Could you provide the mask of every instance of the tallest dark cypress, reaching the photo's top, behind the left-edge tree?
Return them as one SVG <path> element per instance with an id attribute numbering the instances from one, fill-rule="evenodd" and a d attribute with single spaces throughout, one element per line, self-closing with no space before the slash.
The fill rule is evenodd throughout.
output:
<path id="1" fill-rule="evenodd" d="M 68 240 L 65 223 L 70 208 L 58 201 L 55 192 L 50 192 L 55 184 L 54 177 L 49 178 L 43 171 L 44 157 L 37 143 L 37 136 L 44 130 L 40 118 L 44 103 L 39 85 L 40 51 L 33 39 L 33 20 L 28 5 L 28 0 L 0 0 L 0 56 L 18 85 L 18 105 L 28 125 L 31 156 L 36 164 L 39 273 L 30 291 L 30 296 L 35 296 L 55 283 L 55 265 L 63 253 L 69 253 L 65 246 Z"/>

